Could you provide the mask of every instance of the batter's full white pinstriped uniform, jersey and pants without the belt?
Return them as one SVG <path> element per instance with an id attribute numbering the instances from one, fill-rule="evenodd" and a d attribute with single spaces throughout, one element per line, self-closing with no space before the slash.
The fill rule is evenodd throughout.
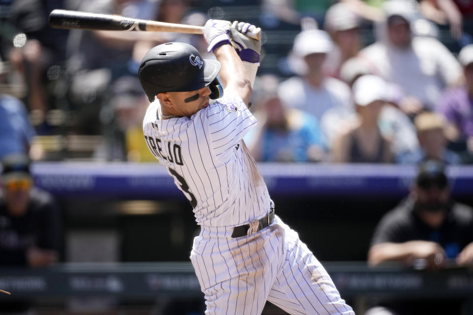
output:
<path id="1" fill-rule="evenodd" d="M 191 118 L 163 121 L 159 106 L 149 106 L 144 135 L 201 224 L 190 258 L 205 315 L 259 315 L 266 301 L 292 315 L 354 315 L 320 262 L 277 216 L 259 232 L 232 237 L 232 226 L 253 223 L 272 206 L 242 141 L 256 119 L 241 98 L 224 96 Z"/>

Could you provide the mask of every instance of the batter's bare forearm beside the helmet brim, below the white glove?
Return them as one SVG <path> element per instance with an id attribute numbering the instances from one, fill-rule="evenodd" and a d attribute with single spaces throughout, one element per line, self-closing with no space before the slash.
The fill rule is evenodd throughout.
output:
<path id="1" fill-rule="evenodd" d="M 216 48 L 214 54 L 222 64 L 220 79 L 225 89 L 235 91 L 247 104 L 252 93 L 251 82 L 235 49 L 231 45 L 225 44 Z"/>

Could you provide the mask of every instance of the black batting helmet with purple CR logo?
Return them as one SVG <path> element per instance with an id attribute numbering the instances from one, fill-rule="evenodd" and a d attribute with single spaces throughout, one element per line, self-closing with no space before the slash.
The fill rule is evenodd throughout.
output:
<path id="1" fill-rule="evenodd" d="M 138 69 L 141 87 L 150 102 L 163 92 L 187 92 L 218 84 L 220 63 L 203 59 L 193 46 L 172 42 L 153 47 Z"/>

